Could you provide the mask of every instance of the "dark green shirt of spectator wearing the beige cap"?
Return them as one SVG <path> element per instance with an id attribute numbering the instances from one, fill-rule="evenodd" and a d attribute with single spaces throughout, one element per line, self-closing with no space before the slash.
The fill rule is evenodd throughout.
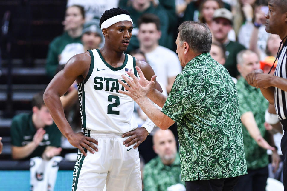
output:
<path id="1" fill-rule="evenodd" d="M 225 57 L 226 61 L 224 66 L 229 72 L 230 76 L 236 78 L 239 75 L 237 70 L 237 61 L 236 56 L 241 50 L 245 50 L 246 48 L 239 44 L 238 42 L 229 41 L 227 44 L 224 44 L 226 48 Z"/>

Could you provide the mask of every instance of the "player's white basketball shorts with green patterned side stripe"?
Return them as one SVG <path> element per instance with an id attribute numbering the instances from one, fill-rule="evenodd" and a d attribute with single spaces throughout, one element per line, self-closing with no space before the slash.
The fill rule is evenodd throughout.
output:
<path id="1" fill-rule="evenodd" d="M 80 151 L 73 173 L 72 191 L 141 191 L 138 148 L 126 147 L 122 134 L 89 133 L 98 141 L 98 152 Z"/>

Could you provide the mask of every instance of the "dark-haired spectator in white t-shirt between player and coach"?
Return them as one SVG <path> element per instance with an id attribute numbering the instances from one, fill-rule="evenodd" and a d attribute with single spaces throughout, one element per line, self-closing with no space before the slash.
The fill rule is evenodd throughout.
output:
<path id="1" fill-rule="evenodd" d="M 158 16 L 146 13 L 138 19 L 138 26 L 140 50 L 145 53 L 146 61 L 155 71 L 163 91 L 169 93 L 175 77 L 181 72 L 178 56 L 159 45 L 161 28 Z"/>

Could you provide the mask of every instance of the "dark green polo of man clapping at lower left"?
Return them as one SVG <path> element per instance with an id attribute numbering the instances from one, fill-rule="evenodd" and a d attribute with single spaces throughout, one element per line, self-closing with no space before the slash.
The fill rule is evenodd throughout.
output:
<path id="1" fill-rule="evenodd" d="M 13 146 L 22 147 L 33 141 L 33 137 L 36 133 L 36 128 L 32 122 L 33 113 L 22 113 L 16 115 L 10 127 L 11 130 L 11 143 Z M 46 146 L 61 146 L 61 135 L 58 127 L 55 123 L 49 126 L 45 126 L 44 130 L 46 133 L 43 136 L 43 140 L 39 146 L 24 160 L 32 157 L 41 156 Z"/>

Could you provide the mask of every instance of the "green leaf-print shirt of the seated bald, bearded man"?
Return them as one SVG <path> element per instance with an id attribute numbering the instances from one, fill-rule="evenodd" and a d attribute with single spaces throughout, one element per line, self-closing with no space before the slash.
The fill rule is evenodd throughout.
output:
<path id="1" fill-rule="evenodd" d="M 180 180 L 180 159 L 176 154 L 175 161 L 171 165 L 164 165 L 161 158 L 149 161 L 144 166 L 144 190 L 166 191 L 167 187 L 175 184 L 184 184 Z"/>

